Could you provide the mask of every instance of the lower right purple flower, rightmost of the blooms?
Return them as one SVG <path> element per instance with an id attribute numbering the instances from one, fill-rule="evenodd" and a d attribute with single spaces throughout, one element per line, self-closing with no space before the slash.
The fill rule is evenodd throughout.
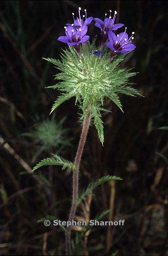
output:
<path id="1" fill-rule="evenodd" d="M 115 35 L 112 31 L 108 32 L 108 38 L 110 42 L 106 44 L 108 48 L 110 48 L 113 52 L 121 52 L 121 53 L 127 53 L 130 51 L 133 51 L 136 46 L 132 44 L 132 40 L 134 32 L 132 32 L 132 36 L 128 39 L 128 34 L 125 32 L 120 33 L 119 35 Z"/>

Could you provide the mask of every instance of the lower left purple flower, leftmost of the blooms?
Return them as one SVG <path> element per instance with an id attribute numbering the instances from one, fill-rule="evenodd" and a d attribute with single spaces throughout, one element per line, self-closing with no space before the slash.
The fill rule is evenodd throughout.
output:
<path id="1" fill-rule="evenodd" d="M 86 36 L 88 31 L 87 26 L 82 26 L 79 29 L 73 26 L 64 27 L 66 36 L 58 37 L 58 41 L 68 44 L 69 46 L 79 45 L 89 40 L 89 36 Z"/>

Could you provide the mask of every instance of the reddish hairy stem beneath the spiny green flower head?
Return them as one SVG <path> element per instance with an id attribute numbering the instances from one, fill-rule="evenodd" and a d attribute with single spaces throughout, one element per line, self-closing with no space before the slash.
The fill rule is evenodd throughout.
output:
<path id="1" fill-rule="evenodd" d="M 82 156 L 82 153 L 84 150 L 84 144 L 85 144 L 86 137 L 88 134 L 89 124 L 90 124 L 90 114 L 87 113 L 84 118 L 82 133 L 80 136 L 78 150 L 76 152 L 76 157 L 75 157 L 75 161 L 74 161 L 76 170 L 73 171 L 73 199 L 72 199 L 72 205 L 71 205 L 71 210 L 69 213 L 68 221 L 72 221 L 74 219 L 75 213 L 76 213 L 76 208 L 77 208 L 76 203 L 77 203 L 77 199 L 78 199 L 78 187 L 79 187 L 80 160 L 81 160 L 81 156 Z M 72 255 L 71 254 L 71 229 L 72 229 L 72 227 L 69 226 L 69 228 L 67 229 L 68 234 L 66 234 L 66 254 L 67 255 Z"/>

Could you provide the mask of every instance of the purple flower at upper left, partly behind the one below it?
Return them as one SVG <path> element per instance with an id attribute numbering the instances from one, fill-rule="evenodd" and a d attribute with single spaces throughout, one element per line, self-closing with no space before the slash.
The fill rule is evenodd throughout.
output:
<path id="1" fill-rule="evenodd" d="M 74 13 L 72 13 L 74 22 L 73 22 L 73 24 L 67 23 L 66 26 L 74 26 L 74 28 L 80 28 L 82 26 L 87 26 L 88 27 L 91 24 L 91 22 L 93 20 L 93 17 L 88 17 L 87 18 L 87 12 L 86 12 L 86 9 L 84 9 L 85 15 L 83 15 L 82 18 L 81 18 L 80 11 L 81 11 L 81 8 L 79 7 L 79 17 L 77 17 L 76 20 L 74 18 Z M 85 20 L 84 20 L 84 17 L 85 17 Z"/>

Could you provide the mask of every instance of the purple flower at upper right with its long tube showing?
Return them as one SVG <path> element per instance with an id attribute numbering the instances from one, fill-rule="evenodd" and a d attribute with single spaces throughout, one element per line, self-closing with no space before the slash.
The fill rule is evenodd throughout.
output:
<path id="1" fill-rule="evenodd" d="M 122 24 L 122 23 L 114 24 L 115 23 L 116 14 L 117 14 L 117 12 L 115 11 L 114 17 L 112 19 L 111 18 L 111 10 L 110 10 L 109 18 L 106 18 L 106 16 L 107 16 L 107 13 L 106 13 L 104 21 L 100 20 L 99 18 L 95 18 L 94 19 L 95 26 L 101 29 L 102 44 L 104 44 L 106 42 L 109 31 L 117 30 L 118 28 L 121 28 L 122 26 L 124 26 L 124 24 Z"/>

